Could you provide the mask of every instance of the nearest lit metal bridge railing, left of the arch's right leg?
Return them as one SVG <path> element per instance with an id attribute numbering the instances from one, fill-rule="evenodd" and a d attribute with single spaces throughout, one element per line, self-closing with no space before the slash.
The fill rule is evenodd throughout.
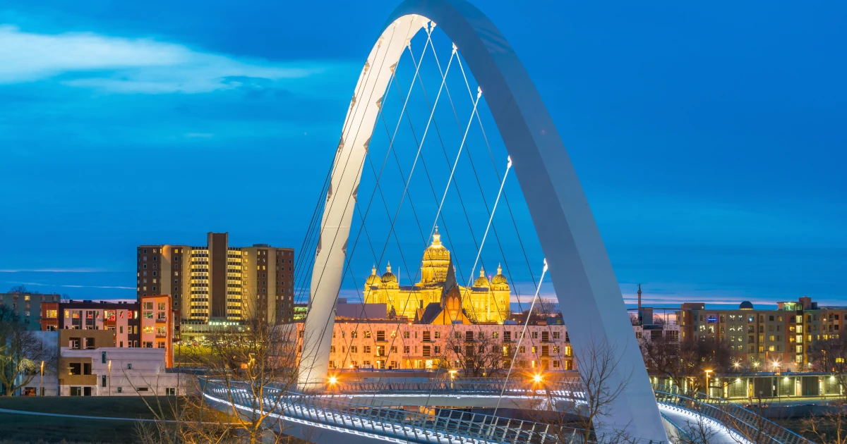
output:
<path id="1" fill-rule="evenodd" d="M 205 381 L 203 391 L 212 397 L 232 399 L 247 410 L 252 410 L 253 406 L 259 404 L 253 397 L 248 382 L 230 381 L 227 385 L 220 381 Z M 278 406 L 274 412 L 276 414 L 412 442 L 554 442 L 549 433 L 551 425 L 520 419 L 472 414 L 447 408 L 420 408 L 416 411 L 379 400 L 375 402 L 376 405 L 348 403 L 337 398 L 283 392 L 281 388 L 273 386 L 265 387 L 263 395 L 274 399 L 280 397 L 280 402 L 275 403 Z"/>

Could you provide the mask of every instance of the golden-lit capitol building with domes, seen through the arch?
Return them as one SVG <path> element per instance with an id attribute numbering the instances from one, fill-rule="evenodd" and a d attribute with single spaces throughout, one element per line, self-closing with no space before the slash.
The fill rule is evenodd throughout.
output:
<path id="1" fill-rule="evenodd" d="M 441 244 L 441 235 L 436 227 L 432 244 L 424 250 L 418 283 L 411 286 L 400 285 L 395 274 L 391 272 L 390 262 L 381 276 L 377 274 L 374 266 L 365 281 L 363 299 L 369 304 L 385 304 L 388 317 L 406 317 L 409 320 L 421 321 L 420 318 L 429 304 L 444 304 L 444 296 L 451 290 L 445 288 L 446 282 L 455 280 L 450 268 L 450 250 Z M 479 270 L 479 277 L 473 281 L 472 287 L 455 287 L 462 298 L 460 310 L 464 314 L 461 318 L 465 322 L 502 324 L 508 318 L 509 284 L 500 266 L 497 266 L 497 274 L 490 280 L 485 277 L 484 270 Z M 454 323 L 458 321 L 455 317 L 451 318 Z"/>

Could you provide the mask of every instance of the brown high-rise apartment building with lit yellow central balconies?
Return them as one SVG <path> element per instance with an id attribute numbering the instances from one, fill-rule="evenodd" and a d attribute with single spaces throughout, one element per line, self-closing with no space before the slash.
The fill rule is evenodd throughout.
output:
<path id="1" fill-rule="evenodd" d="M 258 310 L 291 322 L 294 249 L 230 247 L 229 233 L 208 233 L 204 247 L 140 245 L 137 255 L 138 297 L 171 295 L 184 321 L 241 321 Z"/>

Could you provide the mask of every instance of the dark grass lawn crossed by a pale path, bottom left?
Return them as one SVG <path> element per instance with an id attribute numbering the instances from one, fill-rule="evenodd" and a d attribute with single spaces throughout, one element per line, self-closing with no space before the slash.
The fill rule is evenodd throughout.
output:
<path id="1" fill-rule="evenodd" d="M 155 406 L 155 397 L 145 397 Z M 173 397 L 169 398 L 171 401 Z M 164 404 L 168 398 L 161 397 Z M 0 397 L 0 408 L 118 418 L 153 415 L 141 397 Z M 167 410 L 166 410 L 167 411 Z M 0 442 L 135 442 L 134 421 L 0 413 Z"/>

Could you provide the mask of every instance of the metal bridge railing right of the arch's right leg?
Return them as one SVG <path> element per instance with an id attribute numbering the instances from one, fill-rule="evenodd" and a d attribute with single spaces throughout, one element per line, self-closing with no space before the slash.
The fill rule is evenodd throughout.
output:
<path id="1" fill-rule="evenodd" d="M 653 387 L 656 401 L 686 408 L 717 420 L 755 444 L 811 444 L 797 433 L 721 397 L 706 397 L 678 386 Z"/>

